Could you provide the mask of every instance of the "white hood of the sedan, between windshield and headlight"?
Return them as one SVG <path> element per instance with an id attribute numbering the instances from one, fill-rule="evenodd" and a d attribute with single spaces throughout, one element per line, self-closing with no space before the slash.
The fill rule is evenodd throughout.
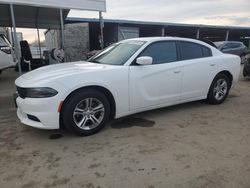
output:
<path id="1" fill-rule="evenodd" d="M 22 78 L 32 81 L 47 80 L 58 78 L 62 76 L 74 75 L 84 72 L 94 72 L 113 67 L 112 65 L 102 65 L 97 63 L 90 63 L 85 61 L 73 63 L 61 63 L 56 65 L 49 65 L 36 69 L 22 75 Z"/>

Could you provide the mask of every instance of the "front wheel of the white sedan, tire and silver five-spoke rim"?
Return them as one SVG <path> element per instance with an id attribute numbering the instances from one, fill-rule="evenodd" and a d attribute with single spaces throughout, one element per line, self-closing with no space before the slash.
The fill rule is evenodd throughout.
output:
<path id="1" fill-rule="evenodd" d="M 107 97 L 94 89 L 82 89 L 71 95 L 63 105 L 61 114 L 66 129 L 78 136 L 99 132 L 109 117 Z"/>

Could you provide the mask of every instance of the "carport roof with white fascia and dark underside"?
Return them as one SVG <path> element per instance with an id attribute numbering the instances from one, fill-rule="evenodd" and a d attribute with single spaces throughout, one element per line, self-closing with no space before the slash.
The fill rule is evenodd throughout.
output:
<path id="1" fill-rule="evenodd" d="M 60 28 L 60 9 L 64 19 L 70 9 L 106 11 L 105 0 L 0 0 L 0 26 L 11 27 L 10 7 L 14 8 L 16 27 Z"/>

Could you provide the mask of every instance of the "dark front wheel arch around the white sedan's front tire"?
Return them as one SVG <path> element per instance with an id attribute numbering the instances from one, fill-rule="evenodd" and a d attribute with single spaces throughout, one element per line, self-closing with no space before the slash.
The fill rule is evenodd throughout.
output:
<path id="1" fill-rule="evenodd" d="M 73 90 L 72 92 L 70 92 L 66 98 L 64 99 L 63 103 L 62 103 L 62 106 L 61 106 L 61 110 L 60 110 L 60 124 L 62 123 L 61 122 L 61 111 L 63 110 L 64 108 L 64 104 L 65 102 L 72 96 L 74 95 L 75 93 L 81 91 L 81 90 L 84 90 L 84 89 L 92 89 L 92 90 L 97 90 L 101 93 L 103 93 L 107 99 L 110 101 L 110 118 L 114 118 L 115 117 L 115 113 L 116 113 L 116 103 L 115 103 L 115 99 L 114 99 L 114 96 L 113 94 L 111 93 L 111 91 L 103 86 L 98 86 L 98 85 L 91 85 L 91 86 L 84 86 L 84 87 L 80 87 L 80 88 L 77 88 L 75 90 Z"/>

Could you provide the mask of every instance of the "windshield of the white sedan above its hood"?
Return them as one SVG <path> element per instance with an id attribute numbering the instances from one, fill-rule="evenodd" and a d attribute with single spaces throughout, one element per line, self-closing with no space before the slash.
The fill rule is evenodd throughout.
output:
<path id="1" fill-rule="evenodd" d="M 108 65 L 124 65 L 144 43 L 136 40 L 116 43 L 107 47 L 88 61 Z"/>

